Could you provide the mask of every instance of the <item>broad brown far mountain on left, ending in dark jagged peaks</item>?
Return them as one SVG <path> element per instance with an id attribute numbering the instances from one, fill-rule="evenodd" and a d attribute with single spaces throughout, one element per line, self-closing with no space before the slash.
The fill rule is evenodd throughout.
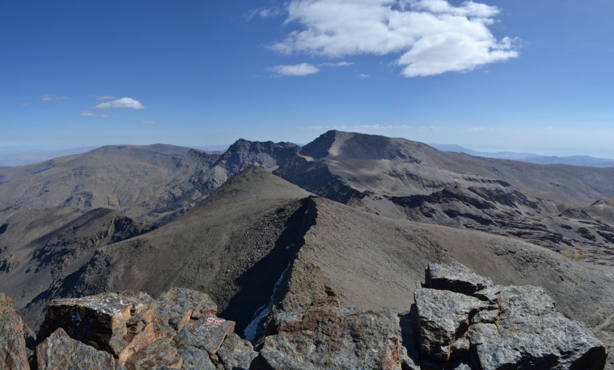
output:
<path id="1" fill-rule="evenodd" d="M 275 167 L 299 147 L 239 140 L 224 153 L 179 146 L 105 146 L 0 169 L 0 209 L 112 208 L 144 222 L 174 217 L 251 166 Z"/>

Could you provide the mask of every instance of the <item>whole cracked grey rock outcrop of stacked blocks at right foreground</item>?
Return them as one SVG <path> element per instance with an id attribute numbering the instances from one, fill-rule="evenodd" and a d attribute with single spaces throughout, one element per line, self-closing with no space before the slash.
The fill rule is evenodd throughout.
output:
<path id="1" fill-rule="evenodd" d="M 415 294 L 423 368 L 605 367 L 604 344 L 543 288 L 497 286 L 458 264 L 429 265 L 426 286 Z"/>

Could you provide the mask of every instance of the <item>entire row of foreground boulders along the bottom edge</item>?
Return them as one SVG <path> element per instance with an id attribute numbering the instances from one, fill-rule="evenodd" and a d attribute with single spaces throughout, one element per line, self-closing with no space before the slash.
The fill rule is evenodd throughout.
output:
<path id="1" fill-rule="evenodd" d="M 408 308 L 410 298 L 407 299 Z M 273 311 L 256 348 L 209 295 L 172 288 L 52 301 L 36 338 L 0 293 L 1 369 L 604 369 L 606 349 L 542 288 L 430 264 L 406 314 L 335 296 Z"/>

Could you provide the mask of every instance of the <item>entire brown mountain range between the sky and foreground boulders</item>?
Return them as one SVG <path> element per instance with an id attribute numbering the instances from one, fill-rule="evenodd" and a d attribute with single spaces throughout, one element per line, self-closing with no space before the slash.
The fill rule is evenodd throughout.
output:
<path id="1" fill-rule="evenodd" d="M 271 313 L 334 295 L 402 312 L 431 262 L 542 286 L 614 345 L 614 169 L 329 131 L 211 153 L 105 146 L 0 169 L 0 291 L 52 299 L 207 292 L 257 343 Z"/>

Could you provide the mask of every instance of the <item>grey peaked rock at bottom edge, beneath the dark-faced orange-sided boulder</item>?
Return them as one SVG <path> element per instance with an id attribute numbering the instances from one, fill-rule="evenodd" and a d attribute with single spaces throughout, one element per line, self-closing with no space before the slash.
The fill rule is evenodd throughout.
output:
<path id="1" fill-rule="evenodd" d="M 36 347 L 36 362 L 39 370 L 56 369 L 125 369 L 110 353 L 96 350 L 68 337 L 61 328 L 53 332 Z M 3 367 L 2 369 L 15 369 Z"/>

